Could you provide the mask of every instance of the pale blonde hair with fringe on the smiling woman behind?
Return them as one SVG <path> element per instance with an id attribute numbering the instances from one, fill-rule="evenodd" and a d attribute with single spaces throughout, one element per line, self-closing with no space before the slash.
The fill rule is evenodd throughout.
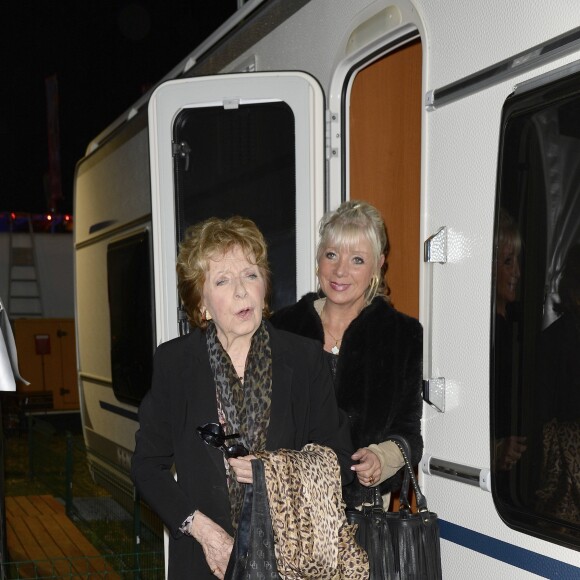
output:
<path id="1" fill-rule="evenodd" d="M 370 304 L 375 296 L 388 298 L 390 293 L 385 276 L 388 269 L 389 237 L 387 227 L 380 212 L 366 201 L 345 201 L 334 211 L 328 212 L 320 220 L 320 239 L 316 261 L 320 261 L 325 248 L 329 246 L 350 247 L 361 238 L 366 238 L 373 251 L 375 274 L 365 291 L 365 301 Z M 385 257 L 382 267 L 381 256 Z"/>

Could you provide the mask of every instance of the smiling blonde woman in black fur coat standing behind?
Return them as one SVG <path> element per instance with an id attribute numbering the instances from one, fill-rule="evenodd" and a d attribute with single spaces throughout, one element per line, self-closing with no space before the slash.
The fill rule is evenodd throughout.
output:
<path id="1" fill-rule="evenodd" d="M 359 506 L 366 488 L 380 486 L 385 504 L 400 487 L 403 466 L 389 435 L 404 436 L 417 465 L 423 452 L 422 344 L 418 320 L 397 312 L 386 296 L 389 243 L 372 205 L 347 201 L 320 223 L 317 252 L 319 293 L 275 313 L 272 323 L 314 338 L 332 369 L 338 404 L 358 450 L 355 481 L 343 488 L 348 505 Z"/>

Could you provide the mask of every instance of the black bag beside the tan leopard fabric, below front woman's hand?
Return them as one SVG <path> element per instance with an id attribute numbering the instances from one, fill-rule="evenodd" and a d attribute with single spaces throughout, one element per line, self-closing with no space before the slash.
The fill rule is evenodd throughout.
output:
<path id="1" fill-rule="evenodd" d="M 224 580 L 280 580 L 274 552 L 264 464 L 252 461 L 253 484 L 246 485 L 240 521 Z"/>

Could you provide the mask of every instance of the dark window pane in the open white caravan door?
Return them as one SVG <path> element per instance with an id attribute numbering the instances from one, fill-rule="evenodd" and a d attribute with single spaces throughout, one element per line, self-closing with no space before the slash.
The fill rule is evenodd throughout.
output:
<path id="1" fill-rule="evenodd" d="M 252 219 L 268 243 L 271 306 L 296 300 L 294 115 L 283 102 L 184 109 L 173 127 L 177 242 L 208 217 Z"/>

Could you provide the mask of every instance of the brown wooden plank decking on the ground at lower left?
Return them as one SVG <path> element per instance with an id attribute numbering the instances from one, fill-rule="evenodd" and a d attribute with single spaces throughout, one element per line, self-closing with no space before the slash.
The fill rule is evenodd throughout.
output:
<path id="1" fill-rule="evenodd" d="M 6 497 L 6 541 L 21 578 L 121 578 L 50 495 Z"/>

